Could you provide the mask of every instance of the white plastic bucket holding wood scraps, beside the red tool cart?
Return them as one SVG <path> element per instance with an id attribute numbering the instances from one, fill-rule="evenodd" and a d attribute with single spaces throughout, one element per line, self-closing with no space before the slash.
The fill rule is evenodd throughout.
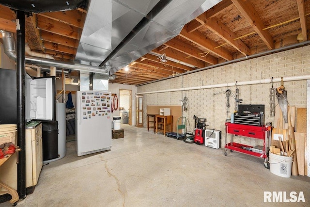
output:
<path id="1" fill-rule="evenodd" d="M 281 176 L 291 177 L 293 157 L 276 155 L 269 152 L 270 172 Z"/>

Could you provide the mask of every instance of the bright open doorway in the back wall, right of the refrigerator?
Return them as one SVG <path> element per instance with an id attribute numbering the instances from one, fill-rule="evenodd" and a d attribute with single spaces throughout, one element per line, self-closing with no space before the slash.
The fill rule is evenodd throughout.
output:
<path id="1" fill-rule="evenodd" d="M 131 125 L 131 90 L 120 89 L 120 116 L 122 124 Z"/>

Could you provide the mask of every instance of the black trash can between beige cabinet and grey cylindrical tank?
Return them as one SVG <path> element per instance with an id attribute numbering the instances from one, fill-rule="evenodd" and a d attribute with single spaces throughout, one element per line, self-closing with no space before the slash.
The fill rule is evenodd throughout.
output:
<path id="1" fill-rule="evenodd" d="M 58 123 L 42 122 L 43 161 L 56 159 L 58 155 Z"/>

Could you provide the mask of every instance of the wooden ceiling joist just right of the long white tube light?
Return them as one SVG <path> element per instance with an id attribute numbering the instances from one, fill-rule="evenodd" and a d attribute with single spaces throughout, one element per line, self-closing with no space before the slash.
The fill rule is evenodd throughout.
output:
<path id="1" fill-rule="evenodd" d="M 187 58 L 188 55 L 184 54 L 183 52 L 179 52 L 175 49 L 172 48 L 167 48 L 164 51 L 157 51 L 157 49 L 153 50 L 156 53 L 160 53 L 160 54 L 164 54 L 166 53 L 167 57 L 173 58 L 175 60 L 179 60 L 180 62 L 184 62 L 187 64 L 191 64 L 194 65 L 196 67 L 202 68 L 205 66 L 204 62 L 202 62 L 201 60 L 197 60 L 195 58 Z"/>

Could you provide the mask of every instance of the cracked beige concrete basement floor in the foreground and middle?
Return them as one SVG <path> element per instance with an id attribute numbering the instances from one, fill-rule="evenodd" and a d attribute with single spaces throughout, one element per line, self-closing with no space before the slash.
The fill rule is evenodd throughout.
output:
<path id="1" fill-rule="evenodd" d="M 261 158 L 122 128 L 125 137 L 104 153 L 77 157 L 75 141 L 67 142 L 66 156 L 43 166 L 17 206 L 310 206 L 310 177 L 283 178 Z M 306 203 L 264 203 L 264 191 L 302 191 Z"/>

